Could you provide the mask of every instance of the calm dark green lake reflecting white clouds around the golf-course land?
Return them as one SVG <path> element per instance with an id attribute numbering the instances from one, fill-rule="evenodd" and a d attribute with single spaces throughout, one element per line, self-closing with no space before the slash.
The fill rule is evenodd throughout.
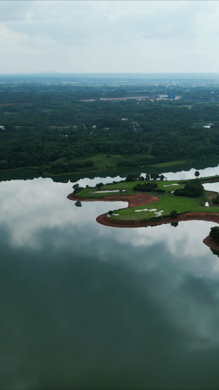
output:
<path id="1" fill-rule="evenodd" d="M 180 167 L 164 173 L 198 164 Z M 76 207 L 73 176 L 2 174 L 1 389 L 218 389 L 219 258 L 203 244 L 216 223 L 101 226 L 112 203 Z"/>

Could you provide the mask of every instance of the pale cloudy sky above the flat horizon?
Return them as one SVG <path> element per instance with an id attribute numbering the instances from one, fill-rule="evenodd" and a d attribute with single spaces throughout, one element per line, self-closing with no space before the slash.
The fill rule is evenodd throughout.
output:
<path id="1" fill-rule="evenodd" d="M 0 1 L 0 73 L 219 72 L 218 1 Z"/>

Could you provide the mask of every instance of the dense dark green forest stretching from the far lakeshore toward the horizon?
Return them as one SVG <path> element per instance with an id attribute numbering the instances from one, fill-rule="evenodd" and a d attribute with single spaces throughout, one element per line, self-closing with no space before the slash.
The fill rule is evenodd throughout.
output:
<path id="1" fill-rule="evenodd" d="M 185 90 L 152 82 L 74 83 L 0 80 L 0 170 L 59 174 L 219 156 L 219 88 L 213 84 Z M 183 96 L 159 100 L 151 93 Z M 138 99 L 103 100 L 124 96 Z"/>

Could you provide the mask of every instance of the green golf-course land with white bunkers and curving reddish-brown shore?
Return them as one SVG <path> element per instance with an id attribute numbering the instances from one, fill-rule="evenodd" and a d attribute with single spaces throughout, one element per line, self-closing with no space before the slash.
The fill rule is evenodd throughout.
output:
<path id="1" fill-rule="evenodd" d="M 162 223 L 204 220 L 219 223 L 218 193 L 205 191 L 203 182 L 219 181 L 218 177 L 192 180 L 164 180 L 156 172 L 146 177 L 130 174 L 125 180 L 95 187 L 73 186 L 68 199 L 76 202 L 128 202 L 127 208 L 110 210 L 96 218 L 98 223 L 114 228 L 138 228 Z M 173 225 L 175 226 L 175 225 Z"/>

